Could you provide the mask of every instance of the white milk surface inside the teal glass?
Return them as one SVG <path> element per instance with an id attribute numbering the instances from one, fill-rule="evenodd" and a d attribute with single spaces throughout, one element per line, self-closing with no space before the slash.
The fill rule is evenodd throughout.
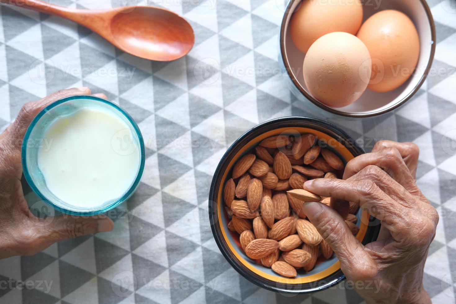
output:
<path id="1" fill-rule="evenodd" d="M 44 132 L 48 144 L 38 150 L 48 189 L 78 208 L 118 199 L 140 166 L 140 149 L 125 141 L 132 138 L 129 126 L 108 111 L 83 108 L 57 118 Z"/>

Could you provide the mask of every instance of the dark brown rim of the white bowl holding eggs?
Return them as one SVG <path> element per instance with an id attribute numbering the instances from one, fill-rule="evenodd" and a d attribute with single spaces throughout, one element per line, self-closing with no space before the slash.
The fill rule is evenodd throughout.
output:
<path id="1" fill-rule="evenodd" d="M 392 105 L 391 107 L 386 108 L 386 109 L 384 109 L 382 111 L 375 111 L 374 110 L 374 111 L 371 111 L 369 113 L 361 113 L 361 114 L 345 113 L 345 112 L 338 111 L 337 109 L 330 108 L 330 107 L 326 106 L 323 103 L 320 103 L 318 100 L 313 98 L 309 93 L 307 93 L 306 90 L 304 90 L 304 88 L 302 88 L 301 84 L 296 80 L 296 78 L 290 72 L 291 71 L 291 67 L 288 64 L 288 61 L 285 60 L 285 58 L 286 58 L 286 53 L 285 53 L 285 23 L 286 23 L 286 19 L 287 19 L 288 15 L 290 15 L 290 13 L 292 13 L 291 12 L 291 5 L 293 3 L 295 3 L 296 1 L 301 1 L 301 0 L 290 0 L 289 1 L 288 5 L 286 6 L 286 9 L 285 9 L 284 16 L 282 18 L 282 23 L 280 24 L 280 35 L 279 35 L 280 55 L 282 57 L 282 61 L 283 61 L 286 73 L 287 73 L 288 77 L 290 77 L 291 82 L 293 82 L 293 85 L 298 89 L 298 91 L 302 95 L 304 95 L 304 97 L 306 99 L 308 99 L 311 103 L 315 104 L 317 107 L 319 107 L 319 108 L 321 108 L 321 109 L 323 109 L 323 110 L 325 110 L 327 112 L 339 115 L 339 116 L 356 117 L 356 118 L 374 117 L 374 116 L 382 115 L 382 114 L 385 114 L 385 113 L 389 113 L 389 112 L 393 111 L 394 109 L 399 108 L 400 106 L 402 106 L 410 98 L 412 98 L 415 95 L 416 92 L 418 92 L 418 90 L 421 88 L 421 86 L 425 82 L 425 80 L 426 80 L 426 78 L 427 78 L 427 76 L 428 76 L 428 74 L 430 72 L 430 69 L 432 67 L 432 62 L 434 62 L 435 48 L 436 48 L 436 45 L 437 45 L 437 42 L 436 42 L 437 38 L 436 38 L 436 34 L 435 34 L 434 17 L 432 16 L 432 13 L 430 11 L 429 5 L 427 4 L 426 0 L 419 0 L 421 5 L 423 5 L 423 8 L 426 11 L 426 15 L 427 15 L 427 17 L 429 19 L 429 25 L 430 25 L 430 30 L 431 30 L 431 39 L 432 39 L 433 43 L 432 43 L 432 46 L 431 46 L 429 61 L 428 61 L 428 64 L 426 66 L 425 72 L 424 72 L 423 76 L 421 77 L 420 81 L 418 82 L 418 84 L 415 86 L 415 88 L 413 88 L 413 90 L 411 92 L 409 92 L 407 94 L 407 96 L 405 96 L 401 101 L 399 101 L 399 103 L 396 103 L 396 104 Z"/>

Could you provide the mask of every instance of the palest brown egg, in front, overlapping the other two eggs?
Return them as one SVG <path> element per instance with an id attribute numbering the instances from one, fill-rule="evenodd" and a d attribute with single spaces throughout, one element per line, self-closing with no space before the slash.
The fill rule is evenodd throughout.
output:
<path id="1" fill-rule="evenodd" d="M 372 71 L 367 47 L 356 36 L 334 32 L 320 37 L 304 58 L 304 81 L 321 103 L 341 108 L 355 102 Z"/>

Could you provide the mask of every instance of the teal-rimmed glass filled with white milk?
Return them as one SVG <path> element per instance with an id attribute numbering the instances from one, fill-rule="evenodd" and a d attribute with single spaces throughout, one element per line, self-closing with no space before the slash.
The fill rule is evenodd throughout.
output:
<path id="1" fill-rule="evenodd" d="M 31 189 L 58 211 L 89 216 L 125 201 L 140 182 L 144 140 L 115 103 L 72 96 L 44 108 L 22 144 L 22 168 Z"/>

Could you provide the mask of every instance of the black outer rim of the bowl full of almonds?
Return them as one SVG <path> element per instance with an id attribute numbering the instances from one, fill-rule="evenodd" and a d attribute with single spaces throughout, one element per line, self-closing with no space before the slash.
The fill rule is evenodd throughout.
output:
<path id="1" fill-rule="evenodd" d="M 326 133 L 333 138 L 337 139 L 339 142 L 344 143 L 347 149 L 356 155 L 364 154 L 365 151 L 361 148 L 350 135 L 345 131 L 338 128 L 337 126 L 322 121 L 320 119 L 309 118 L 309 117 L 300 117 L 300 116 L 290 116 L 283 117 L 278 119 L 272 119 L 266 121 L 262 124 L 255 126 L 254 128 L 248 130 L 243 135 L 241 135 L 234 143 L 228 148 L 228 150 L 223 155 L 220 160 L 217 169 L 215 170 L 214 176 L 211 182 L 211 188 L 209 191 L 209 220 L 211 224 L 212 234 L 217 243 L 220 252 L 228 263 L 244 278 L 248 279 L 250 282 L 255 283 L 259 287 L 268 289 L 274 292 L 286 293 L 286 294 L 301 294 L 301 293 L 312 293 L 324 289 L 328 289 L 337 283 L 340 283 L 345 279 L 345 275 L 342 273 L 342 270 L 337 270 L 335 273 L 323 278 L 319 281 L 311 283 L 298 283 L 298 284 L 284 284 L 271 281 L 269 279 L 263 278 L 256 273 L 251 272 L 246 268 L 241 262 L 238 261 L 236 257 L 233 256 L 230 249 L 227 247 L 226 242 L 222 236 L 222 232 L 218 225 L 218 216 L 217 216 L 217 189 L 221 180 L 223 173 L 228 167 L 228 163 L 231 160 L 232 156 L 235 155 L 242 147 L 248 143 L 251 139 L 254 139 L 259 134 L 267 132 L 272 129 L 278 129 L 282 127 L 305 127 L 315 129 Z M 231 155 L 231 157 L 230 157 Z M 374 221 L 375 223 L 371 224 Z M 378 232 L 380 231 L 380 224 L 378 220 L 374 220 L 371 216 L 369 219 L 369 226 L 366 232 L 366 235 L 363 239 L 363 244 L 372 242 L 378 237 Z"/>

